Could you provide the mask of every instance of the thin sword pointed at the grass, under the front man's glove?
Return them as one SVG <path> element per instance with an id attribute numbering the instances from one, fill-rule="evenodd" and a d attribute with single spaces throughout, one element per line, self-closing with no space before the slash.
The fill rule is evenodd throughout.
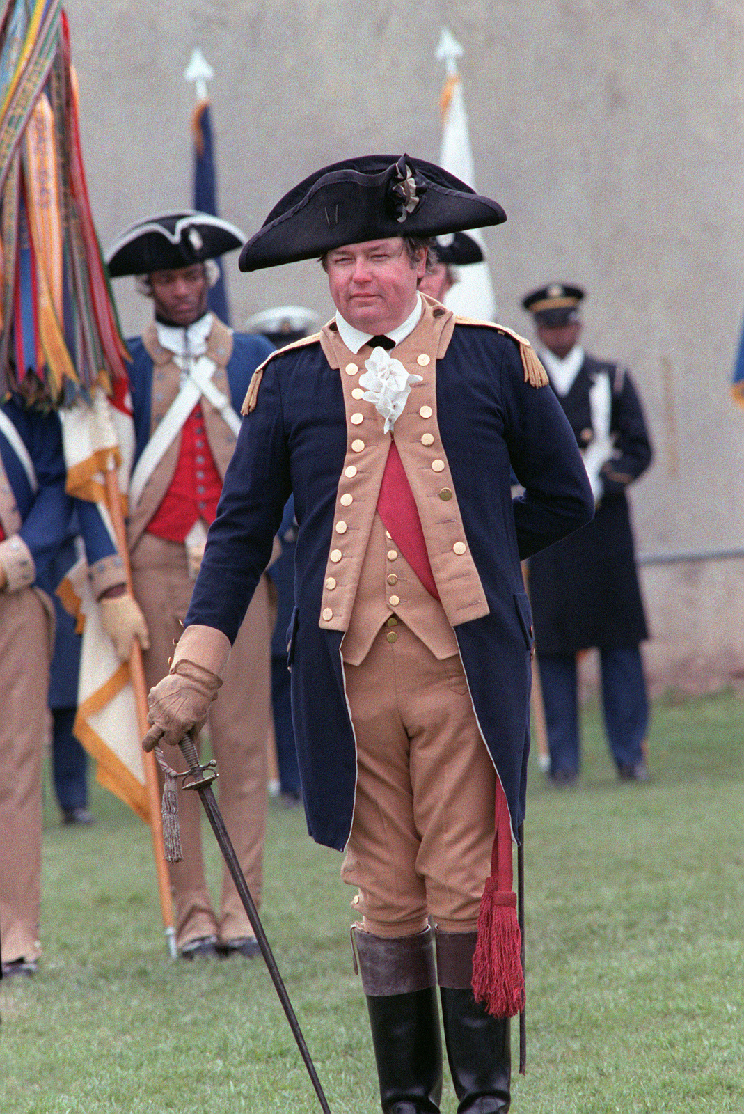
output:
<path id="1" fill-rule="evenodd" d="M 258 947 L 261 948 L 261 954 L 264 957 L 266 967 L 268 968 L 268 974 L 272 977 L 272 981 L 278 995 L 280 1001 L 286 1014 L 286 1019 L 290 1023 L 290 1028 L 294 1035 L 294 1039 L 297 1042 L 297 1048 L 300 1054 L 305 1062 L 305 1067 L 307 1068 L 307 1074 L 312 1081 L 315 1088 L 315 1094 L 317 1095 L 321 1107 L 324 1114 L 331 1114 L 331 1107 L 327 1104 L 327 1100 L 323 1093 L 323 1087 L 321 1086 L 321 1081 L 317 1077 L 317 1072 L 315 1071 L 315 1065 L 313 1064 L 310 1053 L 307 1051 L 307 1045 L 302 1035 L 300 1028 L 300 1023 L 295 1016 L 294 1009 L 292 1008 L 292 1003 L 290 1001 L 290 996 L 286 993 L 286 987 L 280 975 L 278 967 L 276 966 L 276 960 L 274 959 L 271 946 L 266 939 L 266 934 L 264 931 L 264 926 L 261 924 L 261 918 L 258 917 L 258 910 L 255 907 L 254 900 L 251 897 L 251 891 L 245 881 L 245 876 L 237 861 L 237 856 L 235 854 L 235 849 L 227 834 L 227 829 L 225 828 L 225 821 L 222 818 L 219 808 L 215 800 L 215 795 L 212 792 L 212 782 L 217 776 L 217 771 L 215 770 L 215 763 L 211 762 L 208 765 L 203 766 L 199 764 L 199 758 L 196 753 L 196 746 L 194 745 L 194 740 L 189 735 L 185 735 L 180 743 L 178 744 L 180 752 L 186 759 L 189 772 L 182 775 L 182 788 L 183 789 L 195 789 L 196 792 L 202 798 L 202 804 L 204 805 L 204 811 L 206 812 L 209 823 L 212 824 L 212 830 L 214 831 L 217 843 L 219 843 L 219 850 L 222 851 L 227 868 L 235 882 L 235 888 L 241 896 L 241 901 L 248 915 L 248 920 L 253 931 L 255 932 Z"/>

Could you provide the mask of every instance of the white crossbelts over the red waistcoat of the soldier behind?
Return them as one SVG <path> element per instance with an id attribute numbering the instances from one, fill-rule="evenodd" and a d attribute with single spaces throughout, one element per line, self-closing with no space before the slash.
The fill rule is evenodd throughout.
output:
<path id="1" fill-rule="evenodd" d="M 212 382 L 212 377 L 217 368 L 215 361 L 207 355 L 202 355 L 186 368 L 186 361 L 182 356 L 174 355 L 173 359 L 185 372 L 186 378 L 178 394 L 168 407 L 163 421 L 158 423 L 135 465 L 129 483 L 130 508 L 136 507 L 139 502 L 145 485 L 183 429 L 184 422 L 202 395 L 219 412 L 236 437 L 241 428 L 241 419 L 233 409 L 229 399 Z"/>

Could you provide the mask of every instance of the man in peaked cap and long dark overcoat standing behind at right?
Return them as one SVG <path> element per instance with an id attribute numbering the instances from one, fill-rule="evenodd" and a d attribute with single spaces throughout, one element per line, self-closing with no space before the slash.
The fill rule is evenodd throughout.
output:
<path id="1" fill-rule="evenodd" d="M 591 481 L 594 520 L 530 560 L 530 598 L 545 703 L 549 778 L 579 770 L 576 655 L 599 648 L 609 747 L 624 781 L 646 781 L 648 696 L 639 643 L 648 637 L 626 488 L 648 468 L 652 447 L 629 372 L 579 344 L 579 286 L 551 283 L 527 294 L 540 356 Z"/>

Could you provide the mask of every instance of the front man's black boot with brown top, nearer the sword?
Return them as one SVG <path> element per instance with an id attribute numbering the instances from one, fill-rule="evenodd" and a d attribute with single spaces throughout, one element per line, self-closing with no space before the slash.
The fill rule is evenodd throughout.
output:
<path id="1" fill-rule="evenodd" d="M 385 939 L 354 931 L 383 1114 L 439 1114 L 442 1038 L 432 931 Z"/>

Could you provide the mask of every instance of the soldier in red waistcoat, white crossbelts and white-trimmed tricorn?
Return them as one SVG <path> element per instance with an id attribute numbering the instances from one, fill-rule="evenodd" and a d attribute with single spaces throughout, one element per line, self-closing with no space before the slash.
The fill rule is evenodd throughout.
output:
<path id="1" fill-rule="evenodd" d="M 207 528 L 235 448 L 237 411 L 254 370 L 272 351 L 263 338 L 234 333 L 207 311 L 217 271 L 214 260 L 243 242 L 241 232 L 218 217 L 172 213 L 128 228 L 108 252 L 111 276 L 137 275 L 139 289 L 155 306 L 155 322 L 128 342 L 136 448 L 127 531 L 135 596 L 150 631 L 145 654 L 149 684 L 167 672 L 183 631 Z M 209 736 L 222 774 L 222 811 L 258 901 L 271 698 L 265 578 L 258 578 L 235 634 Z M 213 909 L 195 797 L 182 804 L 182 843 L 183 862 L 169 867 L 180 955 L 256 955 L 258 946 L 226 869 L 219 908 Z"/>

